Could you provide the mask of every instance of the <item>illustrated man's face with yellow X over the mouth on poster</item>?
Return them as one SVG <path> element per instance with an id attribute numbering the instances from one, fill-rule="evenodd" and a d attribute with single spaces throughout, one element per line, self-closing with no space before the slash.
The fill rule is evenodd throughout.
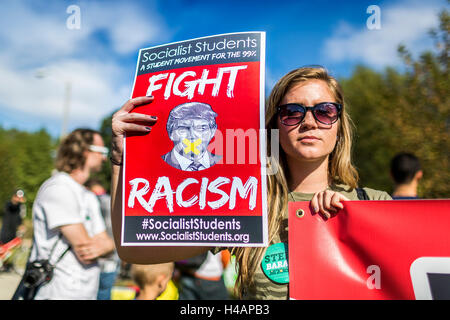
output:
<path id="1" fill-rule="evenodd" d="M 205 119 L 180 119 L 175 124 L 170 139 L 176 152 L 185 158 L 196 160 L 206 152 L 215 131 Z"/>

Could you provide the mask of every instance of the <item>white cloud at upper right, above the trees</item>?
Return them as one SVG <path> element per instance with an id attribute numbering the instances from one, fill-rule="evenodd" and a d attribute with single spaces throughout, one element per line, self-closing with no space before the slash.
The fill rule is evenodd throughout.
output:
<path id="1" fill-rule="evenodd" d="M 363 62 L 374 67 L 399 62 L 397 47 L 404 44 L 412 52 L 430 47 L 428 32 L 438 25 L 442 5 L 436 1 L 401 2 L 380 5 L 381 29 L 355 28 L 341 21 L 333 35 L 325 40 L 323 54 L 332 62 Z M 369 18 L 370 14 L 366 17 Z"/>

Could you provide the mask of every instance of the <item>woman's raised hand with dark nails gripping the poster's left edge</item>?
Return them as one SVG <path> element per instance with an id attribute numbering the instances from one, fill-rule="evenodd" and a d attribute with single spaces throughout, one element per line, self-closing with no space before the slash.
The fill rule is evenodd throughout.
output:
<path id="1" fill-rule="evenodd" d="M 111 158 L 113 162 L 122 163 L 123 138 L 126 134 L 146 134 L 152 129 L 157 118 L 141 113 L 130 113 L 134 108 L 149 104 L 153 97 L 137 97 L 130 99 L 114 113 L 112 117 L 112 149 Z"/>

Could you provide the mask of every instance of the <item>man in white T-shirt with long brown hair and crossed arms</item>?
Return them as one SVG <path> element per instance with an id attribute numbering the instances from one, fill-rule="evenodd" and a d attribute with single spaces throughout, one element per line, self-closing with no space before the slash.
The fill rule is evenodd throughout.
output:
<path id="1" fill-rule="evenodd" d="M 114 242 L 95 194 L 84 183 L 101 169 L 107 153 L 101 135 L 90 129 L 74 130 L 58 148 L 57 172 L 42 184 L 33 204 L 29 261 L 48 259 L 55 264 L 53 278 L 39 288 L 36 300 L 97 298 L 97 260 L 114 250 Z"/>

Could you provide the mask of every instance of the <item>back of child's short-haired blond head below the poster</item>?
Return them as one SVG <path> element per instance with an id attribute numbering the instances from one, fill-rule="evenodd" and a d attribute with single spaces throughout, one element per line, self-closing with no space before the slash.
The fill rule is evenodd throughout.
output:
<path id="1" fill-rule="evenodd" d="M 131 266 L 131 277 L 139 287 L 136 300 L 156 300 L 172 278 L 174 263 Z"/>

